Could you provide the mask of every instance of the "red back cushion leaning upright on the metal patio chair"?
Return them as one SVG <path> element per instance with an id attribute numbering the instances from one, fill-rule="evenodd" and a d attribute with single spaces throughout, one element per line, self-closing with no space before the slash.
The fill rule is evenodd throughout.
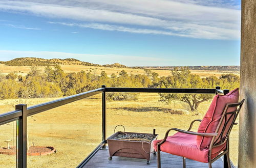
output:
<path id="1" fill-rule="evenodd" d="M 237 103 L 239 100 L 239 90 L 234 89 L 226 95 L 216 95 L 211 101 L 202 122 L 199 125 L 198 132 L 214 133 L 220 122 L 223 110 L 228 103 Z M 236 107 L 235 107 L 236 108 Z M 229 109 L 236 110 L 236 109 Z M 212 137 L 197 136 L 197 146 L 200 149 L 207 148 L 210 145 Z"/>

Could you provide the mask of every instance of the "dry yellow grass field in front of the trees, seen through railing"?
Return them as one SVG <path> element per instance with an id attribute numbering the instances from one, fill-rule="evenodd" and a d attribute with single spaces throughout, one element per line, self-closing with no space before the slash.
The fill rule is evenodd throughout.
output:
<path id="1" fill-rule="evenodd" d="M 56 98 L 55 98 L 56 99 Z M 198 113 L 170 114 L 169 110 L 186 109 L 180 102 L 166 105 L 158 102 L 155 93 L 141 93 L 137 101 L 107 102 L 107 136 L 114 133 L 121 124 L 126 131 L 148 132 L 153 128 L 162 138 L 169 128 L 187 129 L 195 119 L 202 119 L 210 102 L 201 103 Z M 33 105 L 53 99 L 28 99 Z M 13 105 L 25 100 L 1 100 L 0 113 L 13 110 Z M 197 131 L 199 123 L 194 125 Z M 6 139 L 15 136 L 15 123 L 0 126 L 0 146 L 5 147 Z M 120 128 L 121 130 L 121 128 Z M 174 132 L 171 132 L 174 133 Z M 79 100 L 64 106 L 45 111 L 28 118 L 29 145 L 53 146 L 58 152 L 46 156 L 28 156 L 28 167 L 75 167 L 101 141 L 101 95 Z M 231 160 L 237 165 L 238 125 L 231 133 Z M 15 167 L 15 156 L 0 155 L 1 167 Z"/>

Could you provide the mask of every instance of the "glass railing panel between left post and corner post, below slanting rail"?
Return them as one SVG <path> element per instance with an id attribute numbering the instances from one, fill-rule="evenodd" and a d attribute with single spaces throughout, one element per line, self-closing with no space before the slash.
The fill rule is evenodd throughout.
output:
<path id="1" fill-rule="evenodd" d="M 76 167 L 102 141 L 101 102 L 97 94 L 28 117 L 28 144 L 38 149 L 28 167 Z"/>

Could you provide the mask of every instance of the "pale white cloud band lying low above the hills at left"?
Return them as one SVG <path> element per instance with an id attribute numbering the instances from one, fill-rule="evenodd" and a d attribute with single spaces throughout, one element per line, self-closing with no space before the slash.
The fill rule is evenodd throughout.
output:
<path id="1" fill-rule="evenodd" d="M 169 65 L 171 59 L 139 57 L 135 55 L 117 55 L 117 54 L 83 54 L 83 53 L 68 53 L 54 51 L 15 51 L 15 50 L 0 50 L 0 61 L 9 61 L 19 57 L 35 57 L 44 59 L 68 59 L 74 58 L 84 62 L 94 64 L 113 64 L 120 63 L 126 66 L 154 66 L 156 62 L 159 65 Z"/>

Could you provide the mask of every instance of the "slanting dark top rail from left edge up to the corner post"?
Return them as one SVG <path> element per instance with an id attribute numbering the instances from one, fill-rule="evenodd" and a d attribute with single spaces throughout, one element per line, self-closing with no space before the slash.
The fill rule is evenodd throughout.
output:
<path id="1" fill-rule="evenodd" d="M 105 88 L 99 88 L 99 89 L 95 89 L 92 91 L 64 97 L 64 98 L 53 100 L 53 101 L 49 101 L 46 103 L 33 105 L 33 106 L 28 107 L 27 113 L 28 113 L 28 116 L 32 116 L 37 113 L 41 113 L 42 111 L 46 111 L 46 110 L 49 110 L 49 109 L 52 109 L 52 108 L 55 108 L 55 107 L 58 107 L 61 105 L 65 105 L 65 104 L 68 104 L 68 103 L 71 103 L 71 102 L 74 102 L 74 101 L 77 101 L 77 100 L 80 100 L 83 98 L 87 98 L 87 97 L 102 93 L 104 90 L 105 90 Z M 10 111 L 8 113 L 1 114 L 0 115 L 0 125 L 15 121 L 19 117 L 22 117 L 22 110 L 14 110 L 14 111 Z"/>

